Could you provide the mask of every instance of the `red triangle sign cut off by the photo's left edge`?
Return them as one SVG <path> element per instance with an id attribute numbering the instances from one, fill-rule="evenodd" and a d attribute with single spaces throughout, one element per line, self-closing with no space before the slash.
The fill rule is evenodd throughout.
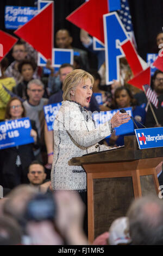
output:
<path id="1" fill-rule="evenodd" d="M 17 38 L 0 30 L 0 62 L 16 44 Z"/>

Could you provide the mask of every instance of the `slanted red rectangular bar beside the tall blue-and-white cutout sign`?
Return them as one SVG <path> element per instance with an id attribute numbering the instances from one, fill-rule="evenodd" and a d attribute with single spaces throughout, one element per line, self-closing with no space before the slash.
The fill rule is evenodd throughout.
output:
<path id="1" fill-rule="evenodd" d="M 138 58 L 137 52 L 136 52 L 133 44 L 131 44 L 131 41 L 128 40 L 128 41 L 124 42 L 124 44 L 122 44 L 121 47 L 122 47 L 124 54 L 126 55 L 127 62 L 129 64 L 131 70 L 133 71 L 133 74 L 137 75 L 141 71 L 143 71 L 143 68 L 142 68 L 140 60 Z"/>

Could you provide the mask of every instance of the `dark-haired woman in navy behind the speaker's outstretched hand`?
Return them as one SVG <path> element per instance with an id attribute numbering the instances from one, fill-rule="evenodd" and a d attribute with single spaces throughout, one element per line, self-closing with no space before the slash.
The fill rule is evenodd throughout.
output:
<path id="1" fill-rule="evenodd" d="M 118 87 L 114 94 L 114 108 L 127 108 L 132 107 L 133 117 L 135 120 L 141 122 L 142 124 L 145 123 L 146 111 L 141 106 L 136 106 L 136 100 L 133 97 L 131 91 L 126 87 Z M 135 121 L 136 125 L 139 128 L 142 126 Z M 136 126 L 134 125 L 134 129 Z M 128 135 L 135 135 L 135 133 L 129 133 Z M 120 146 L 124 144 L 124 135 L 116 136 L 115 131 L 111 134 L 110 138 L 106 139 L 108 145 Z"/>

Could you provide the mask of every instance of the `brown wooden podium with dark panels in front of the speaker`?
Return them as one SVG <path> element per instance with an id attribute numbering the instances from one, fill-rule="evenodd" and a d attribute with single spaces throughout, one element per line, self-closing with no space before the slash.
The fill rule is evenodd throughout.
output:
<path id="1" fill-rule="evenodd" d="M 74 157 L 70 165 L 87 173 L 89 241 L 109 230 L 110 224 L 126 215 L 131 201 L 159 193 L 155 167 L 163 159 L 163 148 L 140 150 L 135 136 L 124 137 L 124 147 Z"/>

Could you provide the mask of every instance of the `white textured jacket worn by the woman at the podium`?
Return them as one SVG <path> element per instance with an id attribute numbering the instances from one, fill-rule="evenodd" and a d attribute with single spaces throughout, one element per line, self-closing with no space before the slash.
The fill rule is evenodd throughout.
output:
<path id="1" fill-rule="evenodd" d="M 93 151 L 108 150 L 99 141 L 112 132 L 110 121 L 95 127 L 92 116 L 79 103 L 62 101 L 54 121 L 54 155 L 51 171 L 54 190 L 86 190 L 86 172 L 81 166 L 68 166 L 72 157 L 89 154 Z"/>

